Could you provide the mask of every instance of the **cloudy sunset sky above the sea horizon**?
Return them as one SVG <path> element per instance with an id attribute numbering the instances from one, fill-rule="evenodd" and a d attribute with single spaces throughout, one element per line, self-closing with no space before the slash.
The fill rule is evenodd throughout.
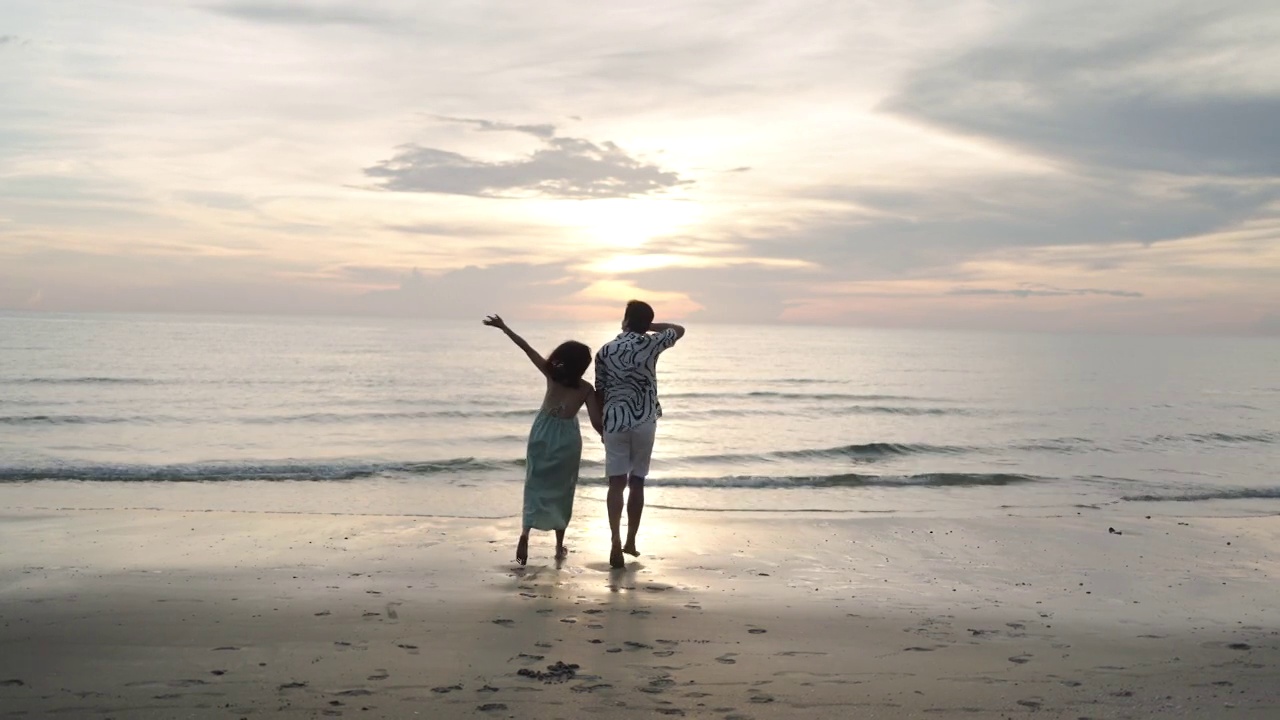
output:
<path id="1" fill-rule="evenodd" d="M 1280 334 L 1274 0 L 5 0 L 0 309 Z"/>

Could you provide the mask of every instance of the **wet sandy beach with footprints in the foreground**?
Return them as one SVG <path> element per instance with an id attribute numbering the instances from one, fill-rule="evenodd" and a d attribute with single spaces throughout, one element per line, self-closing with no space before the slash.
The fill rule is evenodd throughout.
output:
<path id="1" fill-rule="evenodd" d="M 653 507 L 611 571 L 593 497 L 517 568 L 515 518 L 147 488 L 0 488 L 0 716 L 1280 717 L 1275 515 Z"/>

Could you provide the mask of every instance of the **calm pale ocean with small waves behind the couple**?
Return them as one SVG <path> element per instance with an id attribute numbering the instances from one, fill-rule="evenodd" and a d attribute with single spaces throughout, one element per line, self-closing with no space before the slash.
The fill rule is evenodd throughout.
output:
<path id="1" fill-rule="evenodd" d="M 543 352 L 617 333 L 512 325 Z M 691 323 L 659 392 L 659 507 L 1280 500 L 1276 338 Z M 204 498 L 195 510 L 225 509 L 234 486 L 252 491 L 234 493 L 242 510 L 516 516 L 541 393 L 480 318 L 0 314 L 0 484 L 79 483 L 90 503 L 146 483 L 163 505 L 165 487 L 198 483 L 180 496 Z M 582 428 L 580 498 L 595 501 L 603 451 L 585 411 Z M 297 483 L 302 501 L 278 489 Z"/>

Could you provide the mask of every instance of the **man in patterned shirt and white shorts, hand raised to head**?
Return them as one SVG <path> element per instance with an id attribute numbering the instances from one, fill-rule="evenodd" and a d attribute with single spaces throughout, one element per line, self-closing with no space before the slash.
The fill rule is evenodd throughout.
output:
<path id="1" fill-rule="evenodd" d="M 622 334 L 595 354 L 595 392 L 604 407 L 604 471 L 609 475 L 609 566 L 622 568 L 622 553 L 639 556 L 636 532 L 644 512 L 644 478 L 653 437 L 662 416 L 658 402 L 658 356 L 685 336 L 685 328 L 654 323 L 648 302 L 627 302 Z M 627 497 L 627 543 L 622 544 L 622 491 Z"/>

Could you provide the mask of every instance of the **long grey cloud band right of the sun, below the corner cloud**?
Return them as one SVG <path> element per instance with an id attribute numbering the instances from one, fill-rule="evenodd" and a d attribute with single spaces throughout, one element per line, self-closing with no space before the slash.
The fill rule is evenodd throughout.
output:
<path id="1" fill-rule="evenodd" d="M 1280 183 L 1152 188 L 1119 174 L 993 177 L 906 190 L 824 188 L 815 195 L 849 209 L 736 237 L 741 252 L 877 277 L 946 268 L 1009 247 L 1149 245 L 1256 218 L 1280 200 Z"/>

